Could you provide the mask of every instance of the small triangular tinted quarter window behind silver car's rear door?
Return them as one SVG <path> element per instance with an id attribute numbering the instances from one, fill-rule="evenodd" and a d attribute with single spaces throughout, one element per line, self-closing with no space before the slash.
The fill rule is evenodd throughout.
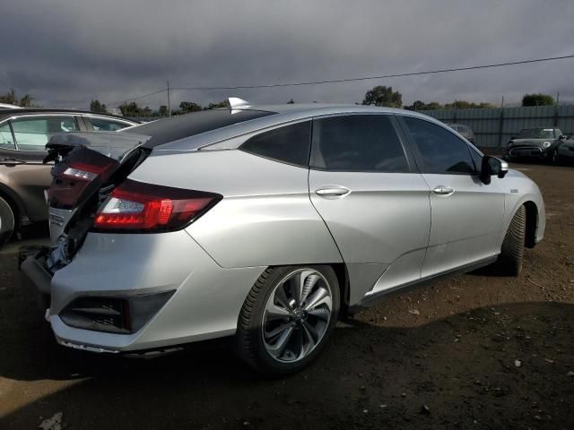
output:
<path id="1" fill-rule="evenodd" d="M 310 145 L 311 122 L 306 121 L 257 134 L 239 149 L 268 159 L 308 166 Z"/>

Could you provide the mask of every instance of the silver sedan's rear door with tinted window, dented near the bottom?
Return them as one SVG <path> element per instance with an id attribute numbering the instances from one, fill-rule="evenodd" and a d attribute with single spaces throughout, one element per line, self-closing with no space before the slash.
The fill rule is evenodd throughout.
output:
<path id="1" fill-rule="evenodd" d="M 346 263 L 350 303 L 419 280 L 429 240 L 429 187 L 392 115 L 316 118 L 309 195 Z"/>

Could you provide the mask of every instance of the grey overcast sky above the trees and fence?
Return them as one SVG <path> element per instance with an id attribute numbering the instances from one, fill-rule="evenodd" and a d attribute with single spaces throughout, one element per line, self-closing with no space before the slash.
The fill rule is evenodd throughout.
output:
<path id="1" fill-rule="evenodd" d="M 7 0 L 0 92 L 87 108 L 170 86 L 318 81 L 574 54 L 572 0 Z M 173 90 L 207 104 L 360 102 L 375 85 L 415 99 L 574 101 L 574 59 L 494 70 L 259 90 Z M 139 99 L 157 108 L 165 93 Z"/>

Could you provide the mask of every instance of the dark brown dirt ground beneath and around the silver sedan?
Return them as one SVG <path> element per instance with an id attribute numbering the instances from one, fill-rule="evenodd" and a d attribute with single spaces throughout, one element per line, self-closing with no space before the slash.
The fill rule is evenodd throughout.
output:
<path id="1" fill-rule="evenodd" d="M 574 428 L 574 168 L 513 167 L 547 211 L 520 277 L 471 273 L 389 296 L 283 380 L 258 378 L 220 342 L 148 360 L 59 347 L 9 246 L 0 428 L 58 413 L 70 429 Z"/>

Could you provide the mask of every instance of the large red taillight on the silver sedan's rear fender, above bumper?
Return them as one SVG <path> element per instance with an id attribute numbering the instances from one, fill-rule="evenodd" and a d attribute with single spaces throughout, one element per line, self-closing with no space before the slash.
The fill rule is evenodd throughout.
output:
<path id="1" fill-rule="evenodd" d="M 94 230 L 159 232 L 184 228 L 222 196 L 127 179 L 103 202 Z"/>

